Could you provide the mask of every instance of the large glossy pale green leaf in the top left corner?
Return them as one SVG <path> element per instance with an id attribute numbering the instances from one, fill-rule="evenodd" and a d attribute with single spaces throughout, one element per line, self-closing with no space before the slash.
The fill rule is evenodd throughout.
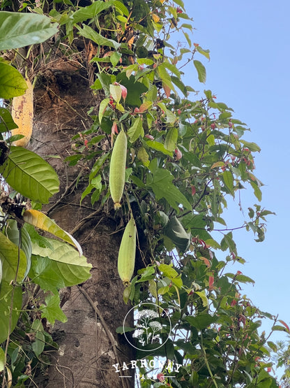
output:
<path id="1" fill-rule="evenodd" d="M 0 12 L 0 50 L 46 41 L 58 31 L 49 17 L 36 13 Z"/>

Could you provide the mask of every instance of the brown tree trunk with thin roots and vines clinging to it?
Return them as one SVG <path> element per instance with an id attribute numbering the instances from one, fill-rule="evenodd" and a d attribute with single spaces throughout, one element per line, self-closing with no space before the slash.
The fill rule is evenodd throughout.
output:
<path id="1" fill-rule="evenodd" d="M 123 302 L 123 285 L 117 273 L 122 220 L 116 220 L 114 210 L 98 210 L 86 199 L 80 204 L 89 168 L 85 163 L 73 167 L 63 163 L 72 152 L 71 137 L 91 127 L 87 110 L 98 101 L 91 94 L 87 73 L 75 59 L 56 55 L 43 69 L 35 87 L 31 150 L 54 166 L 61 181 L 59 194 L 43 210 L 73 233 L 93 268 L 90 280 L 63 290 L 68 322 L 57 322 L 52 329 L 59 350 L 52 354 L 52 366 L 38 385 L 134 387 L 131 370 L 116 373 L 113 367 L 134 359 L 133 348 L 116 334 L 130 308 Z M 132 378 L 119 377 L 126 372 Z"/>

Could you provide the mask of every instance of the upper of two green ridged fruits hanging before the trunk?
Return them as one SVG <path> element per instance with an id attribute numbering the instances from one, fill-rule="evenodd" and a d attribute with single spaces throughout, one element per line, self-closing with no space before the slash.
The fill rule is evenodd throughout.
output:
<path id="1" fill-rule="evenodd" d="M 114 208 L 120 208 L 125 186 L 125 168 L 127 157 L 127 135 L 125 131 L 116 137 L 109 164 L 109 190 L 114 201 Z"/>

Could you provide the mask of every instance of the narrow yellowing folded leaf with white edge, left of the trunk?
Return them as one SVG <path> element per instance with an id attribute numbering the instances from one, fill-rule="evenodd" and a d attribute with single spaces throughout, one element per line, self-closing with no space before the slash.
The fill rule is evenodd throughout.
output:
<path id="1" fill-rule="evenodd" d="M 43 231 L 48 231 L 54 236 L 66 241 L 70 245 L 73 245 L 79 251 L 79 256 L 82 256 L 82 248 L 77 242 L 77 240 L 75 240 L 75 238 L 73 238 L 70 233 L 61 229 L 61 227 L 59 227 L 59 225 L 57 225 L 53 220 L 47 217 L 47 215 L 34 209 L 25 210 L 23 214 L 23 220 L 28 224 L 33 225 L 33 227 L 42 229 Z"/>

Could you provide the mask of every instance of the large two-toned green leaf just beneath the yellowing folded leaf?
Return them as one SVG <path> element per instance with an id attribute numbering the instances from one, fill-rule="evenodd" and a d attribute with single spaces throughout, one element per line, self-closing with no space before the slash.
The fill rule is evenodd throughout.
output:
<path id="1" fill-rule="evenodd" d="M 90 278 L 91 264 L 70 245 L 47 238 L 52 249 L 32 245 L 29 278 L 45 291 L 70 287 Z"/>

